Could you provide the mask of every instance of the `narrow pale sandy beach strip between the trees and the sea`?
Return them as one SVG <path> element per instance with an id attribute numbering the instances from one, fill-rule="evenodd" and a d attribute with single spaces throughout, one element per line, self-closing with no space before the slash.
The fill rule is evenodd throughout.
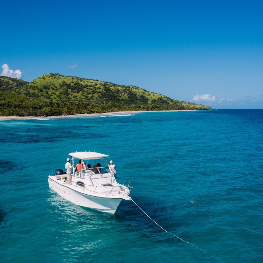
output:
<path id="1" fill-rule="evenodd" d="M 58 116 L 0 116 L 0 120 L 12 120 L 12 119 L 39 119 L 39 118 L 61 118 L 61 117 L 76 117 L 76 116 L 100 116 L 111 114 L 129 114 L 129 113 L 143 113 L 143 112 L 175 112 L 175 111 L 196 111 L 196 110 L 131 110 L 131 111 L 114 111 L 105 113 L 83 113 L 74 115 L 58 115 Z"/>

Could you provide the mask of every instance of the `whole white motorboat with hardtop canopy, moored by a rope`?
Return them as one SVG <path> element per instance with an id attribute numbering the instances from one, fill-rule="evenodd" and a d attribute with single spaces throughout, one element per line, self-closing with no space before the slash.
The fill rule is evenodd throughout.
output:
<path id="1" fill-rule="evenodd" d="M 116 212 L 123 199 L 131 200 L 129 194 L 132 187 L 129 184 L 124 185 L 126 180 L 114 176 L 106 159 L 109 155 L 86 151 L 69 153 L 69 155 L 71 163 L 76 158 L 81 160 L 82 169 L 75 172 L 73 167 L 71 180 L 65 178 L 66 175 L 61 169 L 56 170 L 55 175 L 48 177 L 49 187 L 60 196 L 76 205 L 111 214 Z M 89 168 L 88 164 L 94 164 L 93 161 L 95 166 L 96 163 L 101 165 L 101 162 L 104 165 Z"/>

